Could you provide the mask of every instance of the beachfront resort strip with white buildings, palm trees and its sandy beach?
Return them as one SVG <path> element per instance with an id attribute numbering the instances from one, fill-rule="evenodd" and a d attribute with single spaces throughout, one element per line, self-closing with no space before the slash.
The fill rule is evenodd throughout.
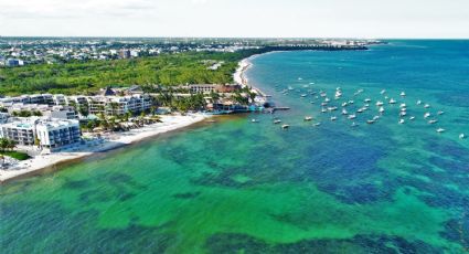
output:
<path id="1" fill-rule="evenodd" d="M 0 180 L 106 151 L 212 115 L 259 110 L 267 98 L 241 84 L 106 87 L 93 95 L 0 98 L 6 146 Z"/>

